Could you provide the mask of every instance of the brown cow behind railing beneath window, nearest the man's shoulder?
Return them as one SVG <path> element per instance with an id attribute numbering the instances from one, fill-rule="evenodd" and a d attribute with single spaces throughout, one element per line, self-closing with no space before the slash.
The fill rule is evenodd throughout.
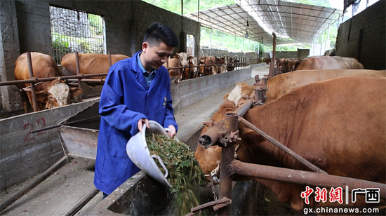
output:
<path id="1" fill-rule="evenodd" d="M 81 74 L 107 74 L 109 72 L 109 55 L 94 53 L 78 53 L 79 72 Z M 111 55 L 111 62 L 114 65 L 120 60 L 129 58 L 126 55 Z M 76 56 L 75 53 L 67 53 L 63 56 L 60 63 L 64 76 L 76 75 Z M 93 76 L 89 79 L 101 80 L 102 76 Z M 103 85 L 104 82 L 86 82 L 89 86 Z"/>

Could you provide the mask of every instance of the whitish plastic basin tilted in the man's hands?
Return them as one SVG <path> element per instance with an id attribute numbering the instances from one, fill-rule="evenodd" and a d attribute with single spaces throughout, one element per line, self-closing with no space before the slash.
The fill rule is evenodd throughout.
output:
<path id="1" fill-rule="evenodd" d="M 166 169 L 166 166 L 158 155 L 150 154 L 145 138 L 146 134 L 152 133 L 168 136 L 168 133 L 166 133 L 167 130 L 170 129 L 163 128 L 156 121 L 150 120 L 149 128 L 144 125 L 142 128 L 142 133 L 138 132 L 136 135 L 131 137 L 130 140 L 128 140 L 126 145 L 126 152 L 135 166 L 138 166 L 138 168 L 140 168 L 144 173 L 153 177 L 155 180 L 168 187 L 171 187 L 171 184 L 166 179 L 166 177 L 168 177 L 168 169 Z M 165 174 L 162 173 L 162 171 L 159 169 L 156 161 L 154 161 L 154 158 L 157 158 L 162 168 L 165 170 Z"/>

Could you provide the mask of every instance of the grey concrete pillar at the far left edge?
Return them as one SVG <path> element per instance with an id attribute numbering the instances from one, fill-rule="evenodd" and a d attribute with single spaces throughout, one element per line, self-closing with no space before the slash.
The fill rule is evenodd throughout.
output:
<path id="1" fill-rule="evenodd" d="M 0 1 L 0 81 L 15 80 L 15 60 L 20 55 L 18 20 L 14 0 Z M 11 112 L 22 109 L 16 86 L 0 87 L 0 110 Z"/>

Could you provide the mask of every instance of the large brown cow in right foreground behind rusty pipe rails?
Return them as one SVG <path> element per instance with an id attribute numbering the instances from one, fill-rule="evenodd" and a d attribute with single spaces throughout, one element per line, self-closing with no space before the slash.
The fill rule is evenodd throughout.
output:
<path id="1" fill-rule="evenodd" d="M 385 184 L 385 104 L 386 78 L 338 77 L 310 83 L 263 106 L 253 107 L 244 114 L 244 119 L 330 175 Z M 241 141 L 237 142 L 236 153 L 240 161 L 310 171 L 245 127 L 239 123 Z M 217 160 L 213 155 L 197 156 L 200 166 Z M 246 179 L 251 177 L 234 177 L 234 180 Z M 279 201 L 293 209 L 302 210 L 305 206 L 300 196 L 305 191 L 304 184 L 252 179 L 272 189 Z M 334 204 L 318 203 L 312 196 L 310 207 Z M 364 197 L 357 196 L 354 204 L 364 206 Z"/>

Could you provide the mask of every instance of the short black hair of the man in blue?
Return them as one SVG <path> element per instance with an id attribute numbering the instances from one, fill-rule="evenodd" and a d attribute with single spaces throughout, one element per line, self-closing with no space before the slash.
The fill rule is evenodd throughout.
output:
<path id="1" fill-rule="evenodd" d="M 143 42 L 149 43 L 149 46 L 158 45 L 159 42 L 164 42 L 168 46 L 178 47 L 178 37 L 167 25 L 153 22 L 147 27 Z"/>

